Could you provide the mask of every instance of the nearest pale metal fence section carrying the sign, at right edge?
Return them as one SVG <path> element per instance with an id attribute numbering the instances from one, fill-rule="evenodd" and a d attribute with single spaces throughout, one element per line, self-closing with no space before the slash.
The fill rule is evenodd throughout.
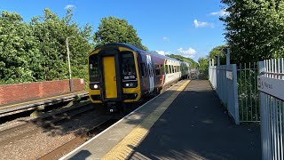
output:
<path id="1" fill-rule="evenodd" d="M 259 62 L 259 74 L 263 159 L 284 159 L 283 59 Z M 276 95 L 282 95 L 282 98 Z"/>

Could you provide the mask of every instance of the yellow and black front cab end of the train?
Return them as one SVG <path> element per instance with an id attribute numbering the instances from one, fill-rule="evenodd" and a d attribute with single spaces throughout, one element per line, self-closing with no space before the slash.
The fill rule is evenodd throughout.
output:
<path id="1" fill-rule="evenodd" d="M 94 103 L 140 98 L 138 53 L 124 44 L 107 44 L 89 55 L 90 98 Z"/>

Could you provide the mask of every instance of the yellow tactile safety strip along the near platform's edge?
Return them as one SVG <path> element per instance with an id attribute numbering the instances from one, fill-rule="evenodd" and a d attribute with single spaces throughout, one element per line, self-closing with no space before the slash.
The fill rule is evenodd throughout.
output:
<path id="1" fill-rule="evenodd" d="M 177 91 L 172 93 L 170 97 L 163 101 L 162 104 L 157 107 L 153 113 L 147 116 L 141 124 L 138 124 L 122 141 L 120 141 L 114 148 L 112 148 L 106 156 L 102 159 L 127 159 L 130 154 L 135 152 L 134 148 L 137 148 L 139 143 L 144 140 L 148 134 L 150 128 L 154 123 L 162 116 L 163 112 L 170 106 L 173 100 L 175 100 L 178 94 L 185 90 L 190 80 L 186 80 L 185 84 L 182 84 L 177 88 Z"/>

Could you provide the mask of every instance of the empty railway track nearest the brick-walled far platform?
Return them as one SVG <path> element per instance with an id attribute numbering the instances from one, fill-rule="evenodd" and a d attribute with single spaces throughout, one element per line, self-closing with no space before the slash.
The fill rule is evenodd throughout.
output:
<path id="1" fill-rule="evenodd" d="M 73 116 L 78 116 L 93 109 L 89 101 L 83 104 L 63 108 L 57 112 L 47 114 L 45 116 L 28 121 L 26 124 L 20 124 L 12 128 L 0 132 L 0 146 L 11 143 L 15 140 L 20 140 L 22 137 L 30 136 L 36 132 L 41 132 L 43 129 L 48 130 L 56 127 L 60 121 L 71 119 Z"/>

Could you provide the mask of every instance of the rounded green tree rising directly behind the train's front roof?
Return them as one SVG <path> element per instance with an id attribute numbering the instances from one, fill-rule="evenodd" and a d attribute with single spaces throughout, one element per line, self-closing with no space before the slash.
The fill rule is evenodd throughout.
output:
<path id="1" fill-rule="evenodd" d="M 112 16 L 100 20 L 99 30 L 95 32 L 93 38 L 97 46 L 107 43 L 127 43 L 147 50 L 141 43 L 135 28 L 127 20 Z"/>

